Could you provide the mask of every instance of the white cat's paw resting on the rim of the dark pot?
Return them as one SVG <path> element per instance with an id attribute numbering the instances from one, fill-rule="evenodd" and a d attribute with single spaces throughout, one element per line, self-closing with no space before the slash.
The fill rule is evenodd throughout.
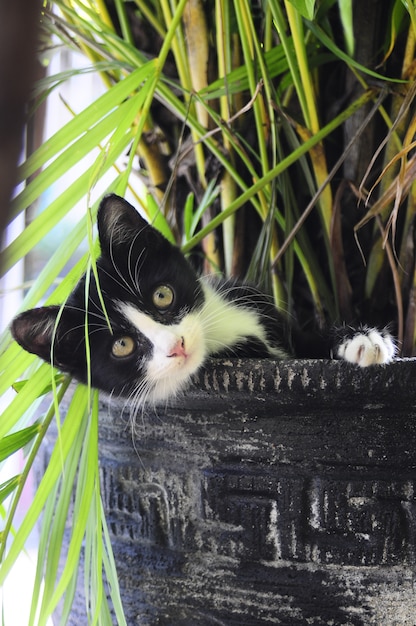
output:
<path id="1" fill-rule="evenodd" d="M 390 363 L 396 354 L 392 335 L 386 330 L 363 326 L 349 329 L 338 340 L 336 356 L 360 367 Z"/>

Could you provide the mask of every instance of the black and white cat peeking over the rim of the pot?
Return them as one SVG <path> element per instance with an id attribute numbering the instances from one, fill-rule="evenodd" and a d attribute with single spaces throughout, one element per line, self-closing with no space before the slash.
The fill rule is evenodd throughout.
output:
<path id="1" fill-rule="evenodd" d="M 395 355 L 391 335 L 368 327 L 312 343 L 291 329 L 289 342 L 267 296 L 233 281 L 199 278 L 179 248 L 118 196 L 102 200 L 98 230 L 99 285 L 93 273 L 84 276 L 65 306 L 26 311 L 11 327 L 25 350 L 83 383 L 90 376 L 93 387 L 138 405 L 177 394 L 210 356 L 333 354 L 364 367 Z"/>

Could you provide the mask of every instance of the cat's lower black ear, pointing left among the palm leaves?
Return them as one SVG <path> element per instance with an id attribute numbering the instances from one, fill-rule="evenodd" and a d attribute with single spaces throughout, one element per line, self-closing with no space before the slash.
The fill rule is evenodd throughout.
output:
<path id="1" fill-rule="evenodd" d="M 11 332 L 22 348 L 50 363 L 58 306 L 25 311 L 14 318 Z"/>

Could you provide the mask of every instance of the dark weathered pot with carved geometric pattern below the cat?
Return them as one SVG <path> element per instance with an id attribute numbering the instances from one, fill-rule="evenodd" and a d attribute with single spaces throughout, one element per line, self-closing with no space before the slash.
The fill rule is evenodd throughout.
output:
<path id="1" fill-rule="evenodd" d="M 414 625 L 415 399 L 411 360 L 253 360 L 213 361 L 134 436 L 103 405 L 128 625 Z"/>

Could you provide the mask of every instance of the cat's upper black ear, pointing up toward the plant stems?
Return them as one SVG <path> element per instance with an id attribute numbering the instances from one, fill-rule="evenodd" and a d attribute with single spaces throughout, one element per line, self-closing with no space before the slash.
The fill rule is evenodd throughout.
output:
<path id="1" fill-rule="evenodd" d="M 108 254 L 119 245 L 130 244 L 140 232 L 147 236 L 156 233 L 127 200 L 115 194 L 102 199 L 97 222 L 103 254 Z"/>

